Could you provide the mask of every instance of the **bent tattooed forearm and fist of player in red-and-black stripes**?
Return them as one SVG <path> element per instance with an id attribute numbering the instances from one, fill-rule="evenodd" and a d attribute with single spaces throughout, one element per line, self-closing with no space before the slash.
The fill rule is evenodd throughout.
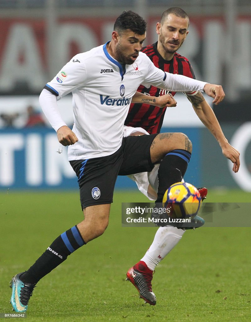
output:
<path id="1" fill-rule="evenodd" d="M 173 98 L 172 94 L 166 94 L 159 97 L 155 97 L 136 92 L 132 98 L 132 103 L 144 103 L 153 106 L 158 106 L 160 108 L 177 106 L 177 102 Z"/>

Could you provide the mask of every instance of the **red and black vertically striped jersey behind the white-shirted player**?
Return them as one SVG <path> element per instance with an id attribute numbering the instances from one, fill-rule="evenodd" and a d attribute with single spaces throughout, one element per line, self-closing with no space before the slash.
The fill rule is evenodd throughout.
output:
<path id="1" fill-rule="evenodd" d="M 175 52 L 170 61 L 166 61 L 157 51 L 157 43 L 143 47 L 141 51 L 144 52 L 151 59 L 153 64 L 161 70 L 195 79 L 190 62 L 186 57 L 181 56 L 177 52 Z M 156 97 L 168 93 L 168 91 L 154 86 L 146 88 L 143 85 L 140 85 L 137 91 Z M 173 96 L 175 93 L 176 92 L 171 92 Z M 166 109 L 167 108 L 162 109 L 148 104 L 132 103 L 126 117 L 125 125 L 132 126 L 134 128 L 144 128 L 150 134 L 159 133 L 163 124 Z"/>

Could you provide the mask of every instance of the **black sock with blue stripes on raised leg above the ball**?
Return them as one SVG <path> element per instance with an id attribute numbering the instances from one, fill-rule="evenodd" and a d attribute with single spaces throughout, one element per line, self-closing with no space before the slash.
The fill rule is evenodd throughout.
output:
<path id="1" fill-rule="evenodd" d="M 191 153 L 182 149 L 173 150 L 163 158 L 158 171 L 159 187 L 156 203 L 162 204 L 167 188 L 182 180 L 190 158 Z"/>

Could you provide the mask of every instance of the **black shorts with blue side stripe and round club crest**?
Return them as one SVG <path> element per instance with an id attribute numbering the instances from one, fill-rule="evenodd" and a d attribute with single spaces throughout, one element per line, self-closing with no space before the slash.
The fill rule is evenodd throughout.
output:
<path id="1" fill-rule="evenodd" d="M 111 204 L 118 175 L 151 171 L 150 147 L 157 134 L 124 137 L 112 155 L 70 161 L 76 172 L 82 209 L 97 204 Z"/>

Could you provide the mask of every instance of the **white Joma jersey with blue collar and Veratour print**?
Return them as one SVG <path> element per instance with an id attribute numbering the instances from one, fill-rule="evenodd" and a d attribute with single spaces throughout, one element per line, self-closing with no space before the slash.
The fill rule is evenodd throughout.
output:
<path id="1" fill-rule="evenodd" d="M 119 149 L 131 99 L 140 84 L 175 91 L 203 91 L 206 84 L 192 79 L 187 82 L 186 78 L 182 83 L 173 76 L 181 75 L 161 71 L 142 52 L 132 65 L 123 69 L 107 52 L 107 43 L 74 56 L 44 87 L 57 100 L 72 92 L 72 131 L 79 141 L 68 147 L 68 159 L 107 156 Z M 50 112 L 46 106 L 42 108 L 50 121 Z M 57 120 L 52 123 L 56 131 L 62 126 L 60 120 L 59 127 Z"/>

